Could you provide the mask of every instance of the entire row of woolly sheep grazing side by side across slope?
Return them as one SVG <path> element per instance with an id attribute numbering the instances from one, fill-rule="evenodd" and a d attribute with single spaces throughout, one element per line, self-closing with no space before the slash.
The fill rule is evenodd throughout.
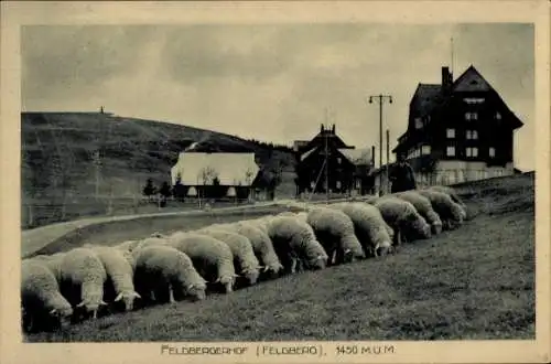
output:
<path id="1" fill-rule="evenodd" d="M 259 279 L 380 257 L 465 218 L 456 193 L 433 186 L 40 255 L 22 260 L 22 322 L 25 331 L 50 330 L 97 318 L 101 307 L 133 310 L 136 299 L 202 300 L 207 287 L 229 293 Z"/>

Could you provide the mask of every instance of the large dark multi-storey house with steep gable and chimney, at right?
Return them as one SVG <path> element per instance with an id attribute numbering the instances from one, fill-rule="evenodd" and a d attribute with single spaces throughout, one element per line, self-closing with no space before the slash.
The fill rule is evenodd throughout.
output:
<path id="1" fill-rule="evenodd" d="M 421 185 L 509 175 L 522 125 L 473 65 L 455 81 L 442 67 L 442 84 L 418 85 L 392 152 L 407 156 Z"/>

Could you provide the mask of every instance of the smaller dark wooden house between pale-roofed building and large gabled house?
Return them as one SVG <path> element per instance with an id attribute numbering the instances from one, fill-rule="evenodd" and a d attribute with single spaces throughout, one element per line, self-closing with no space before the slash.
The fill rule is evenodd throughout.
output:
<path id="1" fill-rule="evenodd" d="M 347 146 L 336 135 L 335 125 L 331 128 L 322 125 L 312 140 L 294 144 L 298 195 L 325 193 L 327 189 L 333 193 L 366 194 L 372 189 L 372 148 L 356 149 Z"/>

